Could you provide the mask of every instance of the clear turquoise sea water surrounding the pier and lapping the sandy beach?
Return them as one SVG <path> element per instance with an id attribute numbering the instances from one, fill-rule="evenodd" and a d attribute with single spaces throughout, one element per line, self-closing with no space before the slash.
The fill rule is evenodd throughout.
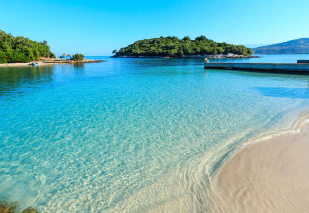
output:
<path id="1" fill-rule="evenodd" d="M 89 58 L 107 61 L 0 68 L 1 197 L 42 212 L 211 210 L 229 153 L 309 115 L 309 76 Z"/>

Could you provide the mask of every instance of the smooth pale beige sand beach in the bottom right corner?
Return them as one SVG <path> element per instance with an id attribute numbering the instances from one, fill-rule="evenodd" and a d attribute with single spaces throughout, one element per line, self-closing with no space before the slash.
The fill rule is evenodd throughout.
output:
<path id="1" fill-rule="evenodd" d="M 230 212 L 309 212 L 309 124 L 247 146 L 213 179 Z"/>

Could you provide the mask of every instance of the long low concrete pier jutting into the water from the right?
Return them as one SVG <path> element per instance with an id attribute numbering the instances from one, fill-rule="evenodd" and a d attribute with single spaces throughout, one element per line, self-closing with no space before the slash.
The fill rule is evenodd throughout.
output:
<path id="1" fill-rule="evenodd" d="M 309 63 L 204 63 L 208 69 L 238 69 L 256 72 L 309 74 Z"/>

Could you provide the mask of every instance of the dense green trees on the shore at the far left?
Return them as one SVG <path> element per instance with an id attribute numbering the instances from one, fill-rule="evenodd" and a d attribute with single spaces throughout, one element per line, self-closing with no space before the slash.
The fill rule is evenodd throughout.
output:
<path id="1" fill-rule="evenodd" d="M 29 62 L 40 57 L 55 58 L 46 41 L 36 42 L 22 36 L 14 37 L 0 30 L 0 63 Z"/>

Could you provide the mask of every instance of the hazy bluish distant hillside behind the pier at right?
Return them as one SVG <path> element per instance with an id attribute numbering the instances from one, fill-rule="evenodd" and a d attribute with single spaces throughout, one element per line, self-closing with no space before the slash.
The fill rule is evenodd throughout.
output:
<path id="1" fill-rule="evenodd" d="M 252 48 L 253 54 L 309 54 L 309 38 Z"/>

